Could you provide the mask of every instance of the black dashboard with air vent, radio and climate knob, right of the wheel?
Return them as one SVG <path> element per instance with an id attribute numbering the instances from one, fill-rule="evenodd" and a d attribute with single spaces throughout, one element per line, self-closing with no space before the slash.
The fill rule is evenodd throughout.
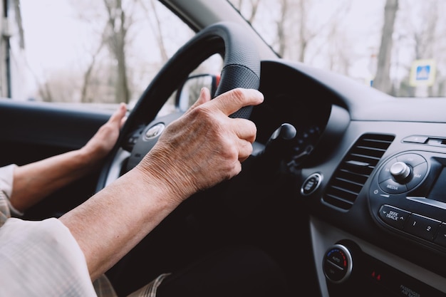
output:
<path id="1" fill-rule="evenodd" d="M 259 142 L 290 123 L 311 147 L 284 158 L 299 156 L 290 172 L 321 295 L 445 296 L 446 100 L 392 98 L 286 61 L 262 62 L 260 89 Z"/>

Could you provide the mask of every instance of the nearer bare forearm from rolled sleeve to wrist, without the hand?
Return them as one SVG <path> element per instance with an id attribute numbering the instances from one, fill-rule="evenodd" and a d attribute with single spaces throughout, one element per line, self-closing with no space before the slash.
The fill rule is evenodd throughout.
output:
<path id="1" fill-rule="evenodd" d="M 70 229 L 95 279 L 133 249 L 180 202 L 156 177 L 132 170 L 60 220 Z"/>

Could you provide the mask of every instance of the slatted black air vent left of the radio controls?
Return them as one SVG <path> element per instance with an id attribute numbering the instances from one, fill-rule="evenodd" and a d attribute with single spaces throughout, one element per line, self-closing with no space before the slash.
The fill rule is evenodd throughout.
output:
<path id="1" fill-rule="evenodd" d="M 341 209 L 350 209 L 394 139 L 393 135 L 361 136 L 331 177 L 323 201 Z"/>

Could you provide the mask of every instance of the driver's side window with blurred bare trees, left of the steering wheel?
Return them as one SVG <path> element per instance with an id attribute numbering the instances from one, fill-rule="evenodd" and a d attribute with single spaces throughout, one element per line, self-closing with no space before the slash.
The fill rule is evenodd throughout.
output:
<path id="1" fill-rule="evenodd" d="M 156 0 L 0 1 L 10 36 L 1 96 L 16 100 L 131 108 L 195 34 Z"/>

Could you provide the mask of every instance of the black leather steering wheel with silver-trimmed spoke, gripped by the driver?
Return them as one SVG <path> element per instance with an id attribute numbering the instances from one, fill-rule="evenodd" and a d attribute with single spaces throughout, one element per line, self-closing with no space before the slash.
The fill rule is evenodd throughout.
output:
<path id="1" fill-rule="evenodd" d="M 199 31 L 165 64 L 146 88 L 120 133 L 120 137 L 103 166 L 96 190 L 103 189 L 136 164 L 155 145 L 165 125 L 179 118 L 173 113 L 156 118 L 167 99 L 200 63 L 215 53 L 224 56 L 220 81 L 214 96 L 233 88 L 259 88 L 260 58 L 246 28 L 220 22 Z M 230 115 L 249 118 L 252 106 Z"/>

